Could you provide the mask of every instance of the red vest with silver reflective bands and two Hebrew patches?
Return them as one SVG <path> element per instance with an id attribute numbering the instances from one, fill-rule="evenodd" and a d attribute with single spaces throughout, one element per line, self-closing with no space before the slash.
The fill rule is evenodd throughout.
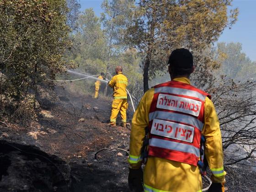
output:
<path id="1" fill-rule="evenodd" d="M 207 93 L 178 81 L 156 85 L 149 110 L 149 156 L 197 166 Z"/>

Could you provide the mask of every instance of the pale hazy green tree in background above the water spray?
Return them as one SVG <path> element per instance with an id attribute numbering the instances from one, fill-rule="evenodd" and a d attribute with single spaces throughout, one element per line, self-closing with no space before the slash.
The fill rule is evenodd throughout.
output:
<path id="1" fill-rule="evenodd" d="M 74 59 L 79 69 L 86 73 L 105 71 L 107 41 L 101 30 L 101 22 L 92 8 L 82 12 L 77 25 L 77 32 L 73 34 L 75 47 L 69 53 L 70 59 Z"/>

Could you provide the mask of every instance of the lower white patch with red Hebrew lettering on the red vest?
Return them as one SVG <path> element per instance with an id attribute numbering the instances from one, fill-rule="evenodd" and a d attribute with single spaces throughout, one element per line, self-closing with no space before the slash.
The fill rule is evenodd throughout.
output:
<path id="1" fill-rule="evenodd" d="M 194 138 L 194 131 L 195 128 L 192 126 L 154 119 L 150 133 L 192 143 Z"/>

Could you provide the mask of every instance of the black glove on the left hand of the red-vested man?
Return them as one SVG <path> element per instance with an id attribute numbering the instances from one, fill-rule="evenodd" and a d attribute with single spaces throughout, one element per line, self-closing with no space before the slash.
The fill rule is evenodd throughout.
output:
<path id="1" fill-rule="evenodd" d="M 128 184 L 131 192 L 143 192 L 143 171 L 139 169 L 130 169 L 128 176 Z"/>

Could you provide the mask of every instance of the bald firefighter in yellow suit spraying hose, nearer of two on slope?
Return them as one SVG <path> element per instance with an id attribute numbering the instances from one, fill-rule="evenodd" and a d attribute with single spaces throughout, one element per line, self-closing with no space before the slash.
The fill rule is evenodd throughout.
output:
<path id="1" fill-rule="evenodd" d="M 123 68 L 121 66 L 116 67 L 116 74 L 112 77 L 108 83 L 114 91 L 114 100 L 112 102 L 112 111 L 110 117 L 110 126 L 115 127 L 117 121 L 117 115 L 120 111 L 122 118 L 122 126 L 126 126 L 126 110 L 128 108 L 126 87 L 128 85 L 127 77 L 123 75 Z"/>

